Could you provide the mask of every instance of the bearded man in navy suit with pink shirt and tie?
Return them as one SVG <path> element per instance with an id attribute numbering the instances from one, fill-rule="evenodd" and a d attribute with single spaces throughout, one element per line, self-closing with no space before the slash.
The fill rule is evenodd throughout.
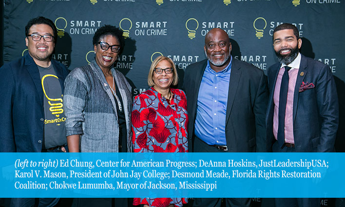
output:
<path id="1" fill-rule="evenodd" d="M 273 30 L 280 62 L 268 68 L 267 139 L 273 152 L 331 152 L 338 129 L 338 98 L 328 66 L 299 53 L 298 29 Z M 276 207 L 317 207 L 318 198 L 275 199 Z"/>

